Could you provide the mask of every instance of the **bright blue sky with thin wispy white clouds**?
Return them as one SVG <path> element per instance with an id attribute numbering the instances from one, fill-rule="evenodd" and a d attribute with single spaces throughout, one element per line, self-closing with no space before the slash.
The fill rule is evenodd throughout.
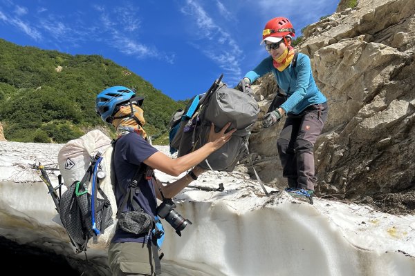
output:
<path id="1" fill-rule="evenodd" d="M 0 0 L 0 37 L 71 55 L 102 55 L 172 99 L 208 90 L 223 73 L 234 86 L 267 52 L 269 19 L 301 29 L 336 0 Z M 122 85 L 122 83 L 120 83 Z"/>

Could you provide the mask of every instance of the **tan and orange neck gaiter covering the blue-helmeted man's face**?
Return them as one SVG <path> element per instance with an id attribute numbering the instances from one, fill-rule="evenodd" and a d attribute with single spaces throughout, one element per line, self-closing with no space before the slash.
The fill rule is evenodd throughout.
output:
<path id="1" fill-rule="evenodd" d="M 126 135 L 129 132 L 136 132 L 142 138 L 146 139 L 147 133 L 142 128 L 142 126 L 145 125 L 144 111 L 140 107 L 133 104 L 133 115 L 138 119 L 138 121 L 140 121 L 141 126 L 133 117 L 131 117 L 131 108 L 129 105 L 121 106 L 120 110 L 116 113 L 112 124 L 117 130 L 118 137 Z"/>

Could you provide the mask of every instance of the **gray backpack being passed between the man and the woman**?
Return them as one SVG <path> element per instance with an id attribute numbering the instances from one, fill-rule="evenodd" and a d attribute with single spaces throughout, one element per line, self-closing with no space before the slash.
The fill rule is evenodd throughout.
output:
<path id="1" fill-rule="evenodd" d="M 187 105 L 184 112 L 186 116 L 183 115 L 181 119 L 174 141 L 180 157 L 206 144 L 211 123 L 214 124 L 215 131 L 219 132 L 225 124 L 231 122 L 230 129 L 237 128 L 237 131 L 230 141 L 213 152 L 199 166 L 232 172 L 243 152 L 248 148 L 250 130 L 257 121 L 259 106 L 252 95 L 229 88 L 222 83 L 222 77 L 223 75 L 213 83 L 208 92 L 197 95 Z M 198 100 L 198 105 L 189 116 L 187 110 L 192 106 L 195 98 Z"/>

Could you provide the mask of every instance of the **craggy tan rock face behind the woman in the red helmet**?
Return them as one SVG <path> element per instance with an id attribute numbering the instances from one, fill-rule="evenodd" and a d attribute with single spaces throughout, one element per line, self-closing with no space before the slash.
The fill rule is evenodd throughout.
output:
<path id="1" fill-rule="evenodd" d="M 360 0 L 304 29 L 296 50 L 311 57 L 329 118 L 315 144 L 317 195 L 415 209 L 415 0 Z M 264 115 L 272 76 L 255 87 Z M 252 131 L 250 152 L 262 180 L 286 186 L 276 140 L 284 122 Z"/>

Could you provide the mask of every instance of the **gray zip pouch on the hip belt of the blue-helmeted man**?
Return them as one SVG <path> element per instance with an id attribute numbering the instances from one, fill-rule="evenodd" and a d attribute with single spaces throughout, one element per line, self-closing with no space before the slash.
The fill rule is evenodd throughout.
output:
<path id="1" fill-rule="evenodd" d="M 154 217 L 144 211 L 125 212 L 120 215 L 118 224 L 120 228 L 128 233 L 145 234 L 153 228 Z"/>

